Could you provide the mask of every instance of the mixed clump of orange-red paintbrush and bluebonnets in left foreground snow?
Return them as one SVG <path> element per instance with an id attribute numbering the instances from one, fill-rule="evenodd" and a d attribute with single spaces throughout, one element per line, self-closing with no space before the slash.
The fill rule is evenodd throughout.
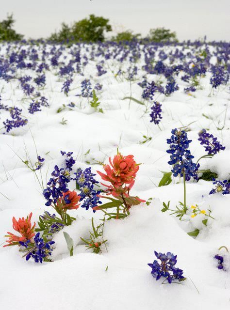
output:
<path id="1" fill-rule="evenodd" d="M 39 216 L 37 226 L 35 222 L 32 224 L 32 213 L 26 218 L 22 217 L 16 220 L 13 217 L 13 228 L 19 233 L 8 232 L 5 237 L 7 246 L 18 246 L 19 252 L 24 253 L 23 257 L 26 260 L 33 259 L 35 263 L 50 262 L 52 261 L 51 252 L 54 249 L 53 235 L 60 232 L 65 226 L 69 226 L 76 220 L 75 217 L 71 217 L 68 214 L 69 210 L 77 210 L 80 206 L 85 210 L 92 209 L 106 210 L 107 208 L 116 208 L 115 218 L 123 218 L 130 214 L 129 209 L 132 205 L 140 204 L 144 202 L 138 197 L 130 196 L 130 190 L 135 182 L 136 173 L 139 170 L 139 164 L 137 164 L 133 158 L 133 155 L 121 155 L 119 152 L 114 156 L 112 160 L 109 158 L 110 165 L 104 165 L 106 173 L 98 171 L 102 180 L 110 183 L 110 185 L 104 185 L 107 187 L 105 193 L 112 195 L 116 199 L 108 198 L 112 203 L 102 203 L 100 198 L 107 198 L 101 196 L 101 189 L 96 189 L 99 182 L 96 181 L 95 173 L 92 173 L 91 167 L 86 168 L 84 171 L 78 168 L 75 173 L 72 173 L 75 160 L 72 156 L 72 152 L 62 152 L 64 158 L 63 168 L 59 168 L 57 165 L 54 167 L 54 171 L 51 173 L 51 178 L 47 183 L 47 188 L 43 191 L 43 196 L 46 199 L 46 206 L 52 207 L 55 210 L 54 214 L 50 214 L 49 211 Z M 69 190 L 68 183 L 75 182 L 76 191 Z M 77 191 L 79 193 L 77 193 Z M 123 214 L 120 214 L 120 210 Z M 56 216 L 57 214 L 57 216 Z M 107 213 L 110 219 L 112 214 Z M 104 225 L 105 218 L 103 219 Z M 99 241 L 98 238 L 102 238 L 102 233 L 99 230 L 102 224 L 95 229 L 92 219 L 92 227 L 94 234 L 89 240 L 83 240 L 87 248 L 92 249 L 95 253 L 99 253 L 100 246 L 106 242 L 106 240 Z M 35 234 L 36 233 L 36 234 Z M 41 234 L 41 235 L 40 235 Z"/>

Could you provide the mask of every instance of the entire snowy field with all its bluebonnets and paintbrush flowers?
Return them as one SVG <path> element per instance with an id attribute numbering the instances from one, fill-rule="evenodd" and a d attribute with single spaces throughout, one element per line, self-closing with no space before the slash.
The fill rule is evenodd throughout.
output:
<path id="1" fill-rule="evenodd" d="M 0 44 L 1 309 L 229 309 L 229 51 Z"/>

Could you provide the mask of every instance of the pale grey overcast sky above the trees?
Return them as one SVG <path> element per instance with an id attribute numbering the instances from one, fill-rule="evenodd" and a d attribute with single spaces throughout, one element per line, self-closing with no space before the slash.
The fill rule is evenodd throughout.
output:
<path id="1" fill-rule="evenodd" d="M 0 20 L 7 13 L 15 29 L 26 38 L 47 37 L 62 22 L 71 23 L 89 14 L 110 19 L 116 31 L 131 29 L 142 35 L 165 27 L 179 40 L 230 41 L 230 0 L 0 0 Z"/>

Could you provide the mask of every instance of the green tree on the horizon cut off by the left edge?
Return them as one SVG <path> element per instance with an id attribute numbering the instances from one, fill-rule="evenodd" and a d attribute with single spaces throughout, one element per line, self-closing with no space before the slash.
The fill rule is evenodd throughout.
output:
<path id="1" fill-rule="evenodd" d="M 0 41 L 17 41 L 23 38 L 22 34 L 18 34 L 12 29 L 14 23 L 13 14 L 8 15 L 0 22 Z"/>

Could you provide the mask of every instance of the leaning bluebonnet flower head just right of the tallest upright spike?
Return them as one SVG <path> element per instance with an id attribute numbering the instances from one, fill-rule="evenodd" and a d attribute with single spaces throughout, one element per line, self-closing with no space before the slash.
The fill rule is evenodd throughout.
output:
<path id="1" fill-rule="evenodd" d="M 198 133 L 200 144 L 205 147 L 205 151 L 210 155 L 219 153 L 221 150 L 225 150 L 225 146 L 221 145 L 217 138 L 208 133 L 205 129 L 200 130 Z"/>

